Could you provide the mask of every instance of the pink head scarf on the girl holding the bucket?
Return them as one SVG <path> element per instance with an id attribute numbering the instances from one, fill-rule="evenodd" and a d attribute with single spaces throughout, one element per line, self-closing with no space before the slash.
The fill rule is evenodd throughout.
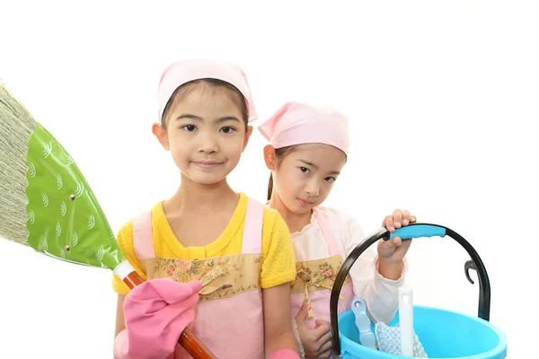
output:
<path id="1" fill-rule="evenodd" d="M 335 109 L 288 102 L 258 128 L 275 148 L 330 144 L 349 153 L 348 118 Z"/>

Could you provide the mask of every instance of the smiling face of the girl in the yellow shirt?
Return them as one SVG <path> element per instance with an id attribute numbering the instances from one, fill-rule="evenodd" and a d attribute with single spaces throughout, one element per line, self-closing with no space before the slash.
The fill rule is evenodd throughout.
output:
<path id="1" fill-rule="evenodd" d="M 212 185 L 234 170 L 252 127 L 245 130 L 235 93 L 207 83 L 196 86 L 174 103 L 166 129 L 155 124 L 154 134 L 183 177 Z"/>

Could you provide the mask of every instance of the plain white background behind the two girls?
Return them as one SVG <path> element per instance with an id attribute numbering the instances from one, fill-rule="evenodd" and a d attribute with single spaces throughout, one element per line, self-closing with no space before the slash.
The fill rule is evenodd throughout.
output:
<path id="1" fill-rule="evenodd" d="M 537 5 L 251 3 L 1 1 L 0 78 L 73 155 L 115 232 L 178 186 L 150 132 L 172 61 L 238 62 L 262 118 L 284 101 L 338 107 L 352 149 L 326 205 L 367 233 L 399 207 L 462 234 L 488 269 L 490 320 L 508 335 L 508 357 L 529 357 L 539 320 Z M 255 133 L 230 176 L 260 200 L 263 145 Z M 476 315 L 479 288 L 455 241 L 417 240 L 409 259 L 415 304 Z M 11 241 L 0 241 L 0 271 L 0 358 L 111 357 L 110 271 Z"/>

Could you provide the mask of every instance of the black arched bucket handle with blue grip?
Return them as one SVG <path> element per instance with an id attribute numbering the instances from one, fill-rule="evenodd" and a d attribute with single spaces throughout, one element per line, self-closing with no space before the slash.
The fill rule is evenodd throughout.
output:
<path id="1" fill-rule="evenodd" d="M 359 256 L 367 250 L 373 243 L 380 240 L 381 238 L 384 241 L 393 239 L 393 237 L 401 237 L 404 240 L 410 240 L 412 238 L 421 238 L 421 237 L 451 237 L 457 241 L 461 246 L 464 247 L 464 250 L 468 252 L 470 258 L 473 261 L 473 267 L 477 270 L 477 276 L 479 278 L 479 310 L 478 317 L 483 320 L 490 320 L 490 281 L 489 276 L 487 275 L 487 270 L 483 265 L 479 254 L 473 249 L 472 245 L 464 240 L 464 238 L 455 231 L 450 230 L 447 227 L 429 224 L 429 223 L 411 223 L 406 227 L 397 229 L 395 232 L 391 233 L 385 228 L 381 228 L 377 232 L 368 236 L 364 241 L 358 244 L 358 246 L 352 250 L 348 258 L 345 259 L 342 267 L 340 267 L 339 273 L 335 278 L 335 283 L 331 288 L 331 298 L 330 298 L 330 315 L 331 315 L 331 337 L 333 338 L 333 352 L 336 355 L 340 355 L 340 340 L 339 340 L 339 321 L 338 321 L 338 304 L 340 289 L 344 284 L 346 277 L 349 275 L 350 268 L 354 265 Z M 467 267 L 469 267 L 469 263 Z"/>

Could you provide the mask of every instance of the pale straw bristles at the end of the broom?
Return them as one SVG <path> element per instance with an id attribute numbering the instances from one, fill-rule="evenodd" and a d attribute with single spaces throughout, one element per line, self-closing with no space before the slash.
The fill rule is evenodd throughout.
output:
<path id="1" fill-rule="evenodd" d="M 0 83 L 0 237 L 28 244 L 26 156 L 37 123 Z"/>

